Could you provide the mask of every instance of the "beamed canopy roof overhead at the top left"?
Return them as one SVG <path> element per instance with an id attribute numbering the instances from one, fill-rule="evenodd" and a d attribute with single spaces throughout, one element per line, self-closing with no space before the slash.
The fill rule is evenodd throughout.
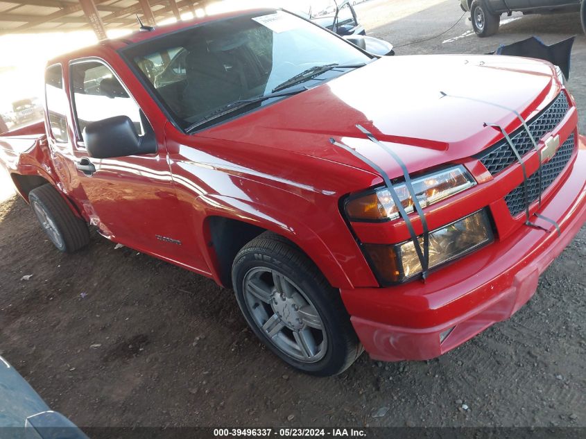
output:
<path id="1" fill-rule="evenodd" d="M 137 28 L 144 24 L 195 15 L 210 0 L 0 0 L 0 35 L 8 33 L 67 32 L 93 29 L 100 40 L 108 29 Z"/>

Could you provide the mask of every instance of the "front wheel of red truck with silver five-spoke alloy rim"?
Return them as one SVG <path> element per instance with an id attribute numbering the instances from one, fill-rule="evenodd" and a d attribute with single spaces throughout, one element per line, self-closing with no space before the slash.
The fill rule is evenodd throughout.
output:
<path id="1" fill-rule="evenodd" d="M 293 368 L 337 375 L 362 353 L 339 291 L 281 236 L 266 232 L 244 246 L 232 282 L 252 332 Z"/>

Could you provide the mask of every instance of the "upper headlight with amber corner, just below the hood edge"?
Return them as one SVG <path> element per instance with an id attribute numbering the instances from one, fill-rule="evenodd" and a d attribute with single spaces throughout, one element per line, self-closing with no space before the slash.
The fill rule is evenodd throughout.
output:
<path id="1" fill-rule="evenodd" d="M 456 166 L 415 178 L 412 183 L 415 196 L 417 196 L 421 207 L 433 205 L 433 203 L 438 203 L 438 201 L 476 185 L 464 166 Z M 411 198 L 406 184 L 396 184 L 393 187 L 406 212 L 408 214 L 413 212 L 413 198 Z M 399 209 L 393 203 L 393 198 L 386 188 L 350 198 L 346 203 L 345 210 L 350 221 L 388 221 L 399 218 Z"/>

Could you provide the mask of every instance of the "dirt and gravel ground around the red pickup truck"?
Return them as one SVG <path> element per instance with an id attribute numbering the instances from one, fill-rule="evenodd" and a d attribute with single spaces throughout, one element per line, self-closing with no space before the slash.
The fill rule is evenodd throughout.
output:
<path id="1" fill-rule="evenodd" d="M 359 11 L 374 15 L 383 2 L 369 3 Z M 455 0 L 430 3 L 439 31 L 461 15 Z M 436 32 L 432 25 L 421 31 L 428 12 L 367 28 L 406 44 L 417 26 L 420 35 Z M 445 38 L 465 32 L 460 26 Z M 512 38 L 507 29 L 501 40 Z M 510 29 L 514 40 L 527 35 Z M 440 44 L 449 51 L 441 40 L 409 50 L 432 53 Z M 483 53 L 499 40 L 479 41 L 463 37 L 450 50 Z M 586 38 L 579 43 L 583 54 Z M 586 90 L 581 75 L 573 82 L 577 98 Z M 95 232 L 87 249 L 62 255 L 12 197 L 0 204 L 0 354 L 51 408 L 83 427 L 585 427 L 585 244 L 586 228 L 512 319 L 439 359 L 377 363 L 364 354 L 342 375 L 318 379 L 263 349 L 232 291 L 114 249 Z M 373 418 L 377 412 L 384 415 Z"/>

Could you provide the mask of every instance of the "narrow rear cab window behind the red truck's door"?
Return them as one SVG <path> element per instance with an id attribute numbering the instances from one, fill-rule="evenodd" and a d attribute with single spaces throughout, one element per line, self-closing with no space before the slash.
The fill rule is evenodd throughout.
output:
<path id="1" fill-rule="evenodd" d="M 63 89 L 63 70 L 60 64 L 46 69 L 45 94 L 51 133 L 56 141 L 67 142 L 69 140 L 67 135 L 69 104 Z"/>

